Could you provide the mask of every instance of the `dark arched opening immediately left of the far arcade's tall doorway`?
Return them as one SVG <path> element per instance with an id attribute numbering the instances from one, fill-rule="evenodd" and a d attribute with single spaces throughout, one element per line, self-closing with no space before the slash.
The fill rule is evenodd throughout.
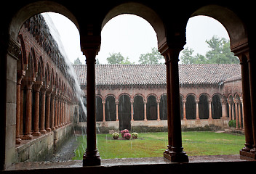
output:
<path id="1" fill-rule="evenodd" d="M 116 121 L 116 100 L 114 96 L 105 99 L 105 120 Z"/>

